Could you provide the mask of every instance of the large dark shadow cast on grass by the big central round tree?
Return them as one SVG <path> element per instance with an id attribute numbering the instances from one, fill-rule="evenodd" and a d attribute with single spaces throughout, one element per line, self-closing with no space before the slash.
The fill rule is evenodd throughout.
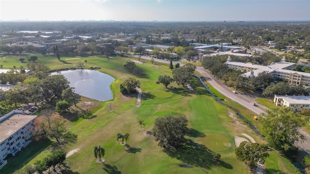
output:
<path id="1" fill-rule="evenodd" d="M 188 165 L 202 167 L 205 169 L 211 168 L 215 165 L 212 160 L 212 151 L 206 146 L 194 143 L 192 140 L 186 139 L 184 145 L 178 147 L 176 150 L 164 149 L 171 158 L 178 159 Z"/>

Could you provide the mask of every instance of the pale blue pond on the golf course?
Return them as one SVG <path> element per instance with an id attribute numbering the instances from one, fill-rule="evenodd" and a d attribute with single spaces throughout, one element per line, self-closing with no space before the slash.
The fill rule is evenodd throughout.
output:
<path id="1" fill-rule="evenodd" d="M 68 70 L 52 73 L 62 74 L 70 82 L 70 87 L 75 87 L 75 93 L 97 101 L 113 99 L 110 84 L 115 79 L 108 74 L 96 70 Z"/>

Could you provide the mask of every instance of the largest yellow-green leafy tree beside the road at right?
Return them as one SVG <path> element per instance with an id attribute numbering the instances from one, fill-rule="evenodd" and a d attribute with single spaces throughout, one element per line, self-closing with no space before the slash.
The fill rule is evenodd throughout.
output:
<path id="1" fill-rule="evenodd" d="M 299 128 L 305 126 L 305 121 L 300 113 L 290 108 L 276 108 L 266 112 L 268 115 L 263 114 L 260 122 L 262 134 L 270 147 L 286 152 L 293 148 L 294 143 L 304 140 Z"/>

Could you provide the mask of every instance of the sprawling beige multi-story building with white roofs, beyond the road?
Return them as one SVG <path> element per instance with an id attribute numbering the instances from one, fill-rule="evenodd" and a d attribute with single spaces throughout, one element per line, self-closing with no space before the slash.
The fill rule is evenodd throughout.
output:
<path id="1" fill-rule="evenodd" d="M 310 85 L 310 73 L 292 71 L 295 63 L 285 61 L 285 57 L 280 62 L 272 63 L 268 66 L 255 65 L 252 63 L 234 62 L 231 61 L 230 56 L 225 62 L 228 68 L 239 71 L 246 71 L 243 76 L 257 76 L 259 73 L 268 72 L 276 79 L 287 80 L 290 84 L 296 85 Z"/>

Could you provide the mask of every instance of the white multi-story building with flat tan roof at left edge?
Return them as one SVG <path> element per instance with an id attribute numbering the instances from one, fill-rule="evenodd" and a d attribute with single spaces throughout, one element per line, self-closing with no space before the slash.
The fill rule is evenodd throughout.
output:
<path id="1" fill-rule="evenodd" d="M 7 163 L 5 158 L 8 154 L 15 156 L 28 144 L 35 117 L 23 115 L 22 110 L 13 110 L 0 117 L 0 168 Z"/>

